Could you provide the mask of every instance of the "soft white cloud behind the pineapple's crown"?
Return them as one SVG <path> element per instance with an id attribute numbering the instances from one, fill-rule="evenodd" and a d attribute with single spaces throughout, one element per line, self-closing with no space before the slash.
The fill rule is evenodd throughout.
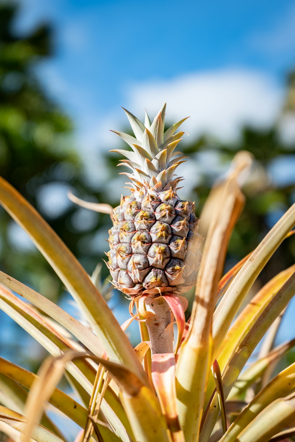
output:
<path id="1" fill-rule="evenodd" d="M 283 99 L 283 91 L 269 76 L 242 69 L 130 84 L 124 92 L 124 107 L 139 118 L 144 118 L 145 107 L 152 118 L 166 101 L 167 121 L 175 122 L 189 115 L 182 127 L 190 136 L 210 133 L 224 141 L 237 138 L 240 127 L 246 123 L 271 125 Z M 108 128 L 120 130 L 122 125 L 127 125 L 127 119 L 122 111 L 120 116 L 115 110 L 103 118 L 92 135 L 88 132 L 88 142 L 96 139 L 99 147 L 113 146 L 117 141 Z"/>

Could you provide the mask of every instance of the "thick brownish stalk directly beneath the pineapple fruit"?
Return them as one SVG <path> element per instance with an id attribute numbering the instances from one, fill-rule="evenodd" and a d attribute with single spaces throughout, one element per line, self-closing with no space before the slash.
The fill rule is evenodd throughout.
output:
<path id="1" fill-rule="evenodd" d="M 156 296 L 156 297 L 155 297 Z M 148 334 L 151 341 L 151 351 L 155 353 L 173 353 L 173 325 L 171 312 L 163 296 L 149 296 L 145 299 L 148 312 L 155 313 L 146 320 Z"/>

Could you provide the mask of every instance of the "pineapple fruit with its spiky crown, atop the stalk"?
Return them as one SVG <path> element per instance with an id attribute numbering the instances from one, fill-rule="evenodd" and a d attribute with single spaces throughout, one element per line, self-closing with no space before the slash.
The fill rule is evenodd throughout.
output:
<path id="1" fill-rule="evenodd" d="M 194 203 L 178 198 L 182 179 L 174 176 L 185 158 L 175 152 L 184 132 L 174 132 L 186 118 L 164 132 L 165 109 L 166 103 L 153 122 L 146 112 L 144 124 L 124 109 L 135 137 L 113 131 L 132 151 L 111 152 L 124 155 L 127 160 L 120 164 L 132 173 L 124 173 L 131 180 L 131 195 L 122 196 L 113 209 L 107 266 L 113 285 L 129 297 L 180 295 L 196 282 L 199 220 Z"/>

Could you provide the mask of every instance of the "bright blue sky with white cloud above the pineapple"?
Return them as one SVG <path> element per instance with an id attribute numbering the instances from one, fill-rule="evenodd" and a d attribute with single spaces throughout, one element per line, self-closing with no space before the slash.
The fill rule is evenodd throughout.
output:
<path id="1" fill-rule="evenodd" d="M 20 3 L 18 30 L 53 23 L 55 55 L 40 76 L 85 149 L 112 143 L 120 106 L 142 114 L 167 101 L 171 119 L 192 116 L 190 132 L 229 138 L 242 122 L 268 124 L 295 65 L 291 0 Z"/>

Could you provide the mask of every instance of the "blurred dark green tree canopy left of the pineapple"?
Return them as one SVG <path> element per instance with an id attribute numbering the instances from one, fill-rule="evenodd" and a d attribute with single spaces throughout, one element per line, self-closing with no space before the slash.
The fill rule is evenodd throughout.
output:
<path id="1" fill-rule="evenodd" d="M 45 24 L 29 35 L 17 35 L 13 30 L 17 12 L 12 2 L 0 4 L 0 175 L 92 270 L 98 256 L 92 256 L 89 263 L 79 241 L 97 230 L 100 215 L 85 215 L 87 211 L 66 196 L 70 187 L 80 194 L 92 191 L 74 149 L 72 121 L 35 73 L 38 63 L 53 56 L 52 30 Z M 57 276 L 2 208 L 0 237 L 1 270 L 55 297 L 62 289 Z"/>

